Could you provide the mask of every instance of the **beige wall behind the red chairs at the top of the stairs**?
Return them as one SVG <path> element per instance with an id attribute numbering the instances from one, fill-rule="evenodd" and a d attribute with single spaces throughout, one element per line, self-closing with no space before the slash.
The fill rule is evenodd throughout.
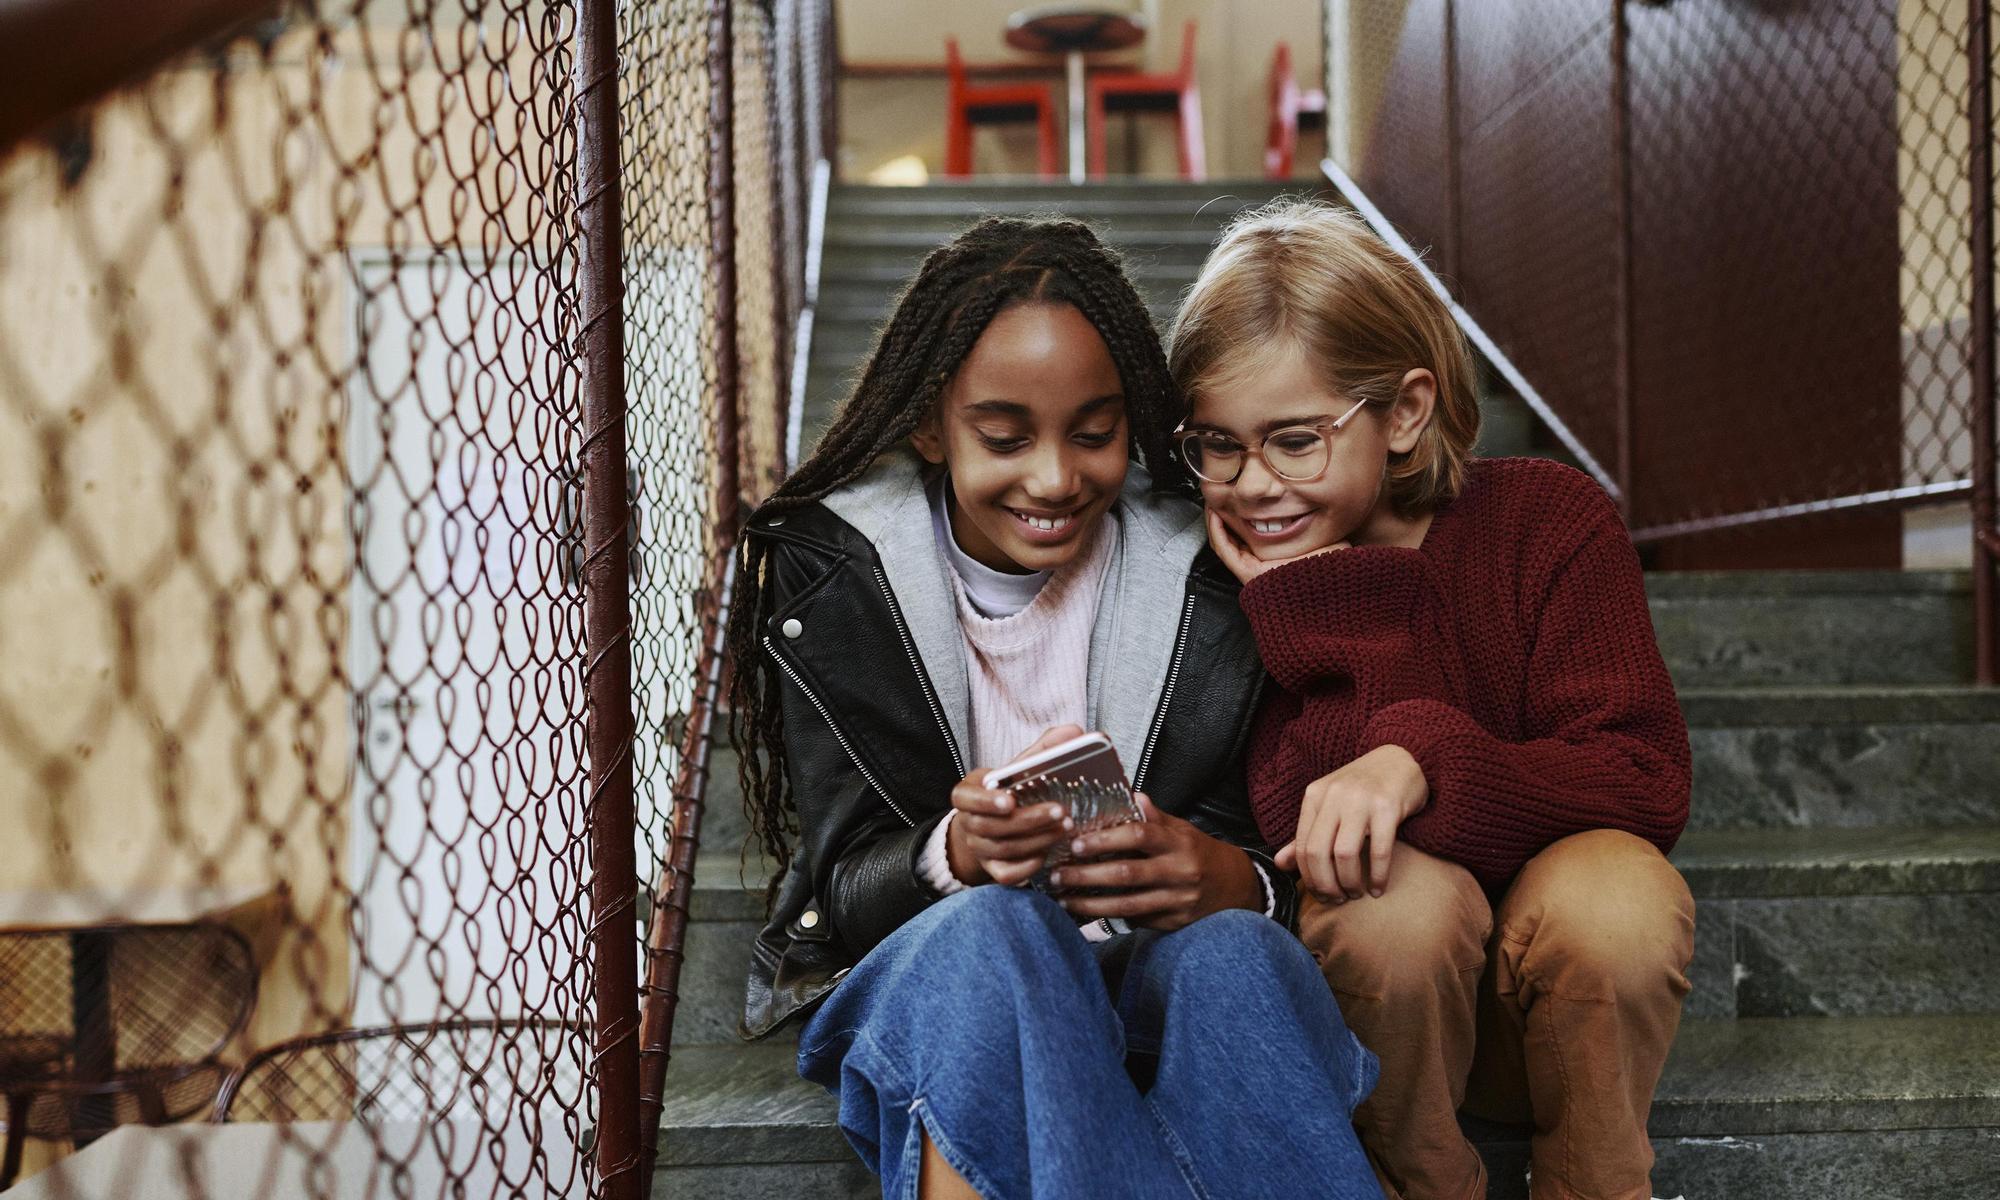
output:
<path id="1" fill-rule="evenodd" d="M 970 62 L 1034 62 L 1002 42 L 1006 18 L 1020 0 L 962 0 L 948 6 L 924 0 L 840 0 L 842 62 L 944 62 L 944 38 L 958 38 Z M 1290 42 L 1292 66 L 1302 86 L 1320 86 L 1318 0 L 1146 0 L 1146 42 L 1124 56 L 1146 70 L 1174 70 L 1180 62 L 1182 26 L 1198 22 L 1196 60 L 1202 78 L 1202 120 L 1210 178 L 1254 178 L 1264 172 L 1264 122 L 1270 62 L 1278 42 Z M 1046 60 L 1062 100 L 1060 58 Z M 944 78 L 840 82 L 842 170 L 862 180 L 886 162 L 916 156 L 930 174 L 944 166 Z M 1110 130 L 1114 172 L 1126 164 L 1124 120 Z M 1176 170 L 1172 120 L 1138 118 L 1140 172 L 1170 176 Z M 1306 142 L 1298 174 L 1312 174 L 1318 140 Z M 974 160 L 980 174 L 1034 172 L 1032 130 L 982 130 Z"/>

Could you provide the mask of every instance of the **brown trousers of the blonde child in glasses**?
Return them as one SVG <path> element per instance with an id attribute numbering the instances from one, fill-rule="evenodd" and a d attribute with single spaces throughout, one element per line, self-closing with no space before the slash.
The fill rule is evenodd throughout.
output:
<path id="1" fill-rule="evenodd" d="M 1484 1200 L 1460 1106 L 1534 1124 L 1536 1200 L 1652 1196 L 1646 1114 L 1694 956 L 1694 900 L 1652 844 L 1564 838 L 1494 908 L 1398 842 L 1380 898 L 1302 902 L 1306 948 L 1382 1060 L 1354 1124 L 1386 1196 Z"/>

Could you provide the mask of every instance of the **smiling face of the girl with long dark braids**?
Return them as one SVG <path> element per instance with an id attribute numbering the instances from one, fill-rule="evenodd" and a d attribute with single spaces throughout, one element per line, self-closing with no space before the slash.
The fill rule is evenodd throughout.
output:
<path id="1" fill-rule="evenodd" d="M 1054 570 L 1088 544 L 1130 464 L 1124 384 L 1070 304 L 992 318 L 910 436 L 952 476 L 952 536 L 1004 572 Z"/>

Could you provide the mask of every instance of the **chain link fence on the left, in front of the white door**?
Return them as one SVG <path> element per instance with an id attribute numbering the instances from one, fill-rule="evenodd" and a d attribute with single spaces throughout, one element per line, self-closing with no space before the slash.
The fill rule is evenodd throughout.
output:
<path id="1" fill-rule="evenodd" d="M 0 14 L 8 1172 L 636 1196 L 824 0 L 116 8 Z"/>

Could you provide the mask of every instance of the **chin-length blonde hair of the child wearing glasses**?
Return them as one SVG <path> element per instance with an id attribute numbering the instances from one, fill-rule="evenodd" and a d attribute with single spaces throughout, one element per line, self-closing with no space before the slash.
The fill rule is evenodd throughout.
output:
<path id="1" fill-rule="evenodd" d="M 1288 198 L 1236 218 L 1170 340 L 1168 366 L 1190 406 L 1204 388 L 1292 348 L 1336 396 L 1378 414 L 1396 404 L 1404 374 L 1424 368 L 1438 400 L 1416 446 L 1390 454 L 1390 504 L 1428 512 L 1464 486 L 1480 434 L 1472 354 L 1416 264 L 1348 210 Z"/>

